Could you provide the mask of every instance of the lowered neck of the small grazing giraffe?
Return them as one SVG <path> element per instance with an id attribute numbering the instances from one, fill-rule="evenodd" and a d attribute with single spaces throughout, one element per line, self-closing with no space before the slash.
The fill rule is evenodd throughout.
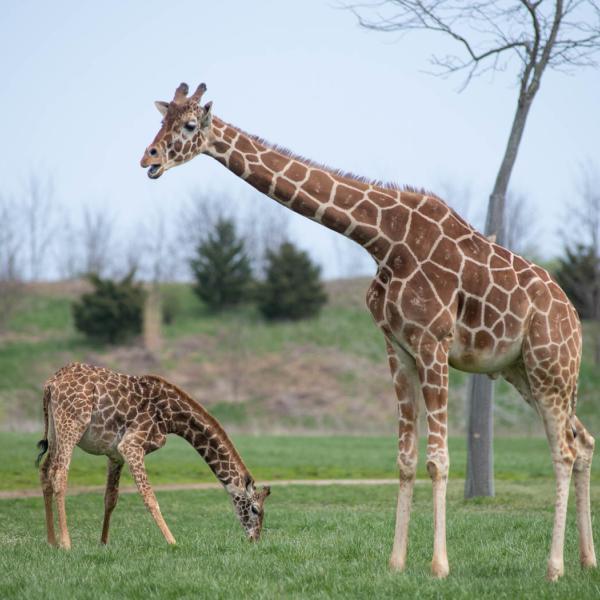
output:
<path id="1" fill-rule="evenodd" d="M 169 406 L 169 432 L 186 439 L 228 491 L 245 488 L 250 472 L 219 422 L 185 392 L 162 383 Z"/>

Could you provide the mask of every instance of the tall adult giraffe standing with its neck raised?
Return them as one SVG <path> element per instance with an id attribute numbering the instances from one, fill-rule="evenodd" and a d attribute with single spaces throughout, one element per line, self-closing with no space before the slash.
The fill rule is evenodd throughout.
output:
<path id="1" fill-rule="evenodd" d="M 596 565 L 589 505 L 594 439 L 575 416 L 581 353 L 577 314 L 542 268 L 486 239 L 432 194 L 333 171 L 212 116 L 206 86 L 157 102 L 162 127 L 141 160 L 152 179 L 198 154 L 250 185 L 363 246 L 377 263 L 367 304 L 383 331 L 399 407 L 400 488 L 390 560 L 405 566 L 417 463 L 417 413 L 427 415 L 433 482 L 432 571 L 448 574 L 448 365 L 499 374 L 540 414 L 556 474 L 548 577 L 563 573 L 571 472 L 575 471 L 581 563 Z"/>

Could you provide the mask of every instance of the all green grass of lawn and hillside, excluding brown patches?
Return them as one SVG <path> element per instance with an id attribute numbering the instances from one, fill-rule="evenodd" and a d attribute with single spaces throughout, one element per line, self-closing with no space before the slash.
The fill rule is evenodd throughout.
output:
<path id="1" fill-rule="evenodd" d="M 356 287 L 361 286 L 362 282 L 358 282 Z M 207 363 L 216 368 L 232 360 L 232 356 L 240 361 L 248 357 L 260 361 L 293 352 L 317 356 L 321 356 L 319 352 L 337 353 L 335 360 L 342 368 L 335 370 L 333 363 L 328 365 L 333 375 L 323 381 L 332 386 L 339 383 L 341 392 L 334 400 L 341 402 L 344 394 L 354 393 L 362 404 L 339 403 L 335 410 L 351 413 L 357 406 L 369 405 L 371 388 L 360 388 L 360 383 L 370 369 L 375 370 L 385 359 L 380 333 L 366 309 L 361 308 L 358 292 L 352 302 L 346 302 L 344 291 L 343 302 L 332 302 L 318 319 L 275 325 L 264 323 L 252 309 L 240 310 L 235 315 L 208 314 L 186 286 L 171 286 L 169 294 L 176 298 L 179 308 L 175 321 L 164 329 L 166 351 L 160 363 L 163 370 L 173 369 L 179 377 L 199 372 Z M 111 349 L 83 340 L 73 330 L 71 301 L 72 296 L 62 295 L 60 289 L 28 295 L 11 320 L 7 337 L 0 343 L 0 426 L 26 423 L 32 431 L 39 431 L 0 432 L 0 491 L 39 489 L 33 461 L 37 453 L 35 443 L 42 429 L 40 387 L 54 369 L 70 360 L 87 360 L 88 356 L 119 368 L 117 363 L 124 357 L 137 356 L 134 346 Z M 241 348 L 239 356 L 232 354 L 233 346 Z M 181 371 L 182 359 L 188 361 L 189 372 Z M 272 364 L 278 363 L 265 362 L 265 377 L 271 376 Z M 357 370 L 356 365 L 362 370 Z M 211 371 L 203 373 L 203 377 L 208 377 Z M 304 385 L 302 371 L 294 376 Z M 285 372 L 280 377 L 287 382 Z M 387 374 L 382 377 L 386 377 L 385 385 L 390 386 L 391 398 Z M 466 376 L 453 372 L 452 402 L 459 407 L 455 423 L 464 416 L 460 410 L 461 386 L 465 381 Z M 206 384 L 211 384 L 210 379 Z M 500 383 L 496 389 L 496 423 L 516 435 L 532 431 L 535 427 L 532 423 L 536 421 L 533 411 L 522 401 L 515 402 L 515 394 L 507 384 Z M 598 389 L 600 373 L 592 364 L 590 348 L 586 347 L 578 414 L 596 435 L 600 428 Z M 373 391 L 372 395 L 376 393 L 379 392 Z M 318 394 L 319 390 L 317 398 Z M 233 426 L 243 426 L 261 407 L 269 406 L 261 405 L 260 400 L 252 397 L 245 403 L 235 403 L 231 399 L 218 399 L 209 409 L 231 430 Z M 304 409 L 307 399 L 299 396 L 295 402 Z M 241 408 L 244 410 L 240 411 Z M 382 422 L 389 422 L 391 430 L 393 399 L 389 412 L 385 406 L 382 410 L 386 411 Z M 270 421 L 263 423 L 282 423 L 285 428 L 285 416 L 285 413 L 267 413 Z M 302 421 L 305 429 L 316 422 Z M 271 431 L 270 427 L 262 430 Z M 111 544 L 101 547 L 102 495 L 74 495 L 68 500 L 74 544 L 68 553 L 49 548 L 45 543 L 41 498 L 0 500 L 0 600 L 600 597 L 598 571 L 582 573 L 578 566 L 572 498 L 565 547 L 566 576 L 554 585 L 544 580 L 554 482 L 543 438 L 497 437 L 496 497 L 469 502 L 463 500 L 462 492 L 464 436 L 450 439 L 451 575 L 440 582 L 429 575 L 433 525 L 424 439 L 408 569 L 399 575 L 387 569 L 393 539 L 395 485 L 277 485 L 277 480 L 283 479 L 396 478 L 397 442 L 393 434 L 302 437 L 234 433 L 232 437 L 256 479 L 274 482 L 266 505 L 263 540 L 259 544 L 245 541 L 222 490 L 158 492 L 163 514 L 178 541 L 174 548 L 164 543 L 137 494 L 122 496 L 113 516 Z M 215 481 L 194 450 L 172 436 L 164 449 L 147 458 L 147 467 L 154 484 Z M 105 469 L 104 458 L 76 450 L 69 484 L 103 485 Z M 594 465 L 592 481 L 592 512 L 597 515 L 600 514 L 600 461 Z M 124 471 L 123 484 L 131 483 L 131 477 Z M 594 527 L 598 540 L 597 519 Z"/>

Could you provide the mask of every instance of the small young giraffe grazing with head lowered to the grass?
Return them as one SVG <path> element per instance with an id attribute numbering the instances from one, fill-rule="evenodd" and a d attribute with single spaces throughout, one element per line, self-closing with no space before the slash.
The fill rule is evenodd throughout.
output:
<path id="1" fill-rule="evenodd" d="M 160 512 L 148 482 L 144 456 L 162 448 L 167 434 L 186 439 L 204 458 L 229 493 L 251 540 L 258 540 L 269 487 L 257 490 L 254 479 L 218 421 L 175 385 L 155 375 L 134 377 L 109 369 L 73 363 L 58 370 L 44 386 L 45 435 L 38 444 L 48 457 L 40 469 L 48 542 L 69 549 L 65 495 L 75 446 L 108 456 L 101 541 L 108 542 L 110 515 L 117 504 L 119 478 L 127 462 L 144 504 L 169 544 L 175 538 Z M 50 435 L 48 435 L 50 434 Z M 56 497 L 60 539 L 52 514 Z"/>

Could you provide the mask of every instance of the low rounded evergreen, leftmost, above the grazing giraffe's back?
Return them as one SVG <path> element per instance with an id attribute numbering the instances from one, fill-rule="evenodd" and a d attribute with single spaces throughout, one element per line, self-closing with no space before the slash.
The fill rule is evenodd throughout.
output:
<path id="1" fill-rule="evenodd" d="M 90 275 L 94 290 L 72 305 L 75 327 L 91 339 L 111 344 L 140 333 L 145 292 L 133 276 L 131 272 L 114 281 Z"/>

